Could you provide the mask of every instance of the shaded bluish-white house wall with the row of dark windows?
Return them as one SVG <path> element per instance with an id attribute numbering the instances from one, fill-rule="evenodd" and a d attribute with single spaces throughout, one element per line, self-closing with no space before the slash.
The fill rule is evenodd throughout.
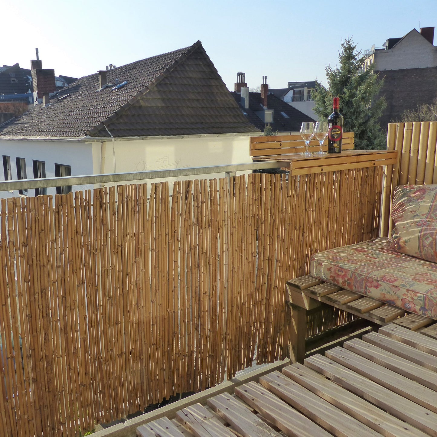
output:
<path id="1" fill-rule="evenodd" d="M 99 147 L 100 147 L 100 143 Z M 33 160 L 45 162 L 45 177 L 55 177 L 55 164 L 71 167 L 71 175 L 93 174 L 93 154 L 90 144 L 76 141 L 21 141 L 1 140 L 0 152 L 10 157 L 12 179 L 17 179 L 16 158 L 26 160 L 27 179 L 33 179 Z M 3 166 L 0 180 L 5 180 Z M 74 187 L 76 190 L 91 189 L 92 185 Z M 56 188 L 47 188 L 47 194 L 56 194 Z M 1 191 L 0 198 L 17 197 L 18 191 Z M 29 196 L 35 195 L 35 189 L 28 190 Z"/>

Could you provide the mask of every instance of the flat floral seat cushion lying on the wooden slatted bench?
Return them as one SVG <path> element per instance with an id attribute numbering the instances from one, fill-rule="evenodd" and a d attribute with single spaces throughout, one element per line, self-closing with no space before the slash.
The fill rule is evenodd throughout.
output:
<path id="1" fill-rule="evenodd" d="M 323 281 L 437 319 L 437 264 L 397 252 L 387 238 L 316 253 L 310 271 Z"/>

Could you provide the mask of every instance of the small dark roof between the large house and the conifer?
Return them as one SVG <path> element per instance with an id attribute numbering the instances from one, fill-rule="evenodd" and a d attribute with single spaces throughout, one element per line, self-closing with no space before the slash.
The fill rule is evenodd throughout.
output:
<path id="1" fill-rule="evenodd" d="M 235 101 L 240 104 L 241 94 L 236 91 L 231 92 Z M 256 111 L 262 111 L 263 107 L 260 104 L 261 93 L 249 93 L 249 108 L 242 108 L 246 114 L 246 118 L 250 123 L 255 125 L 261 131 L 264 130 L 265 124 L 256 114 Z M 241 107 L 241 105 L 240 105 Z M 267 108 L 273 109 L 273 123 L 270 123 L 273 131 L 278 132 L 298 132 L 304 121 L 316 121 L 303 112 L 291 105 L 278 99 L 273 94 L 267 94 Z M 288 115 L 285 118 L 281 112 Z"/>

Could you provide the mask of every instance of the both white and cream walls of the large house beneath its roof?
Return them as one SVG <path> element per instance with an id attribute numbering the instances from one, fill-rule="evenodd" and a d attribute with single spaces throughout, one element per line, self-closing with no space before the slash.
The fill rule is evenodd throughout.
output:
<path id="1" fill-rule="evenodd" d="M 251 134 L 188 135 L 184 137 L 145 137 L 104 142 L 1 140 L 2 155 L 10 156 L 12 179 L 17 179 L 16 157 L 26 160 L 28 179 L 33 179 L 33 160 L 45 162 L 46 177 L 55 177 L 55 163 L 71 166 L 71 175 L 132 173 L 189 167 L 251 163 Z M 253 133 L 252 135 L 259 135 Z M 224 173 L 196 176 L 198 179 L 223 177 Z M 178 177 L 167 179 L 189 179 Z M 4 180 L 1 171 L 0 180 Z M 147 182 L 158 182 L 148 180 Z M 107 184 L 108 185 L 108 184 Z M 73 186 L 73 191 L 93 189 L 94 185 Z M 55 194 L 56 188 L 47 188 Z M 18 191 L 0 192 L 0 198 L 17 197 Z M 29 196 L 35 189 L 29 189 Z"/>

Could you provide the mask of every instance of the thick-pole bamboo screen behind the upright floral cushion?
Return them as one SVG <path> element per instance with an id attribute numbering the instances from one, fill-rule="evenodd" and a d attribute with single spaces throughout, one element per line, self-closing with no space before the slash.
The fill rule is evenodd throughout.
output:
<path id="1" fill-rule="evenodd" d="M 381 235 L 391 235 L 390 207 L 396 185 L 437 184 L 437 121 L 390 123 L 387 149 L 398 151 L 398 163 L 388 166 L 384 182 Z"/>

